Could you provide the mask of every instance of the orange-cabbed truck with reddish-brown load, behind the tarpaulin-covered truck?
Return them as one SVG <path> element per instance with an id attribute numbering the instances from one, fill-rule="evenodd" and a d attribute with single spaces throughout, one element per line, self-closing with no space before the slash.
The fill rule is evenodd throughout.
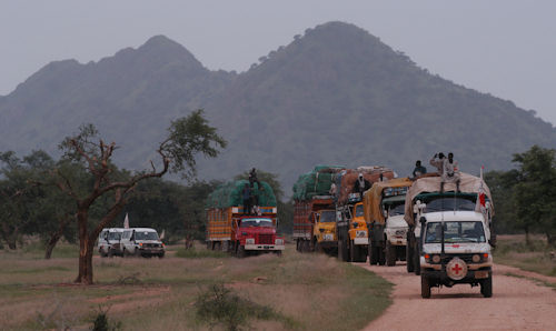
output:
<path id="1" fill-rule="evenodd" d="M 336 232 L 338 234 L 338 259 L 351 262 L 365 262 L 368 251 L 368 228 L 364 215 L 363 197 L 355 192 L 355 182 L 359 173 L 369 187 L 377 181 L 388 181 L 395 177 L 391 169 L 385 167 L 359 167 L 346 169 L 336 175 Z"/>

